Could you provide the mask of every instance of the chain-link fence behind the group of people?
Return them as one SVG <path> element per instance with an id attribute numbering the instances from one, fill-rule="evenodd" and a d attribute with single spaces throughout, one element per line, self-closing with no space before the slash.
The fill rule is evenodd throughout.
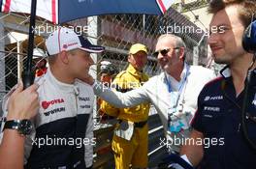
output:
<path id="1" fill-rule="evenodd" d="M 16 85 L 22 70 L 24 70 L 28 45 L 28 26 L 28 14 L 1 14 L 0 101 Z M 157 38 L 166 33 L 176 34 L 184 40 L 187 45 L 186 60 L 189 64 L 207 65 L 208 63 L 208 46 L 205 32 L 174 9 L 170 9 L 167 14 L 161 16 L 146 14 L 92 16 L 78 19 L 62 26 L 72 27 L 90 42 L 106 47 L 106 51 L 103 54 L 93 54 L 95 55 L 93 58 L 96 65 L 92 66 L 91 74 L 97 78 L 99 78 L 99 63 L 103 60 L 111 61 L 118 70 L 124 70 L 128 66 L 128 50 L 136 42 L 144 43 L 149 50 L 148 61 L 144 68 L 145 72 L 150 76 L 158 74 L 161 70 L 157 65 L 156 58 L 151 53 L 154 51 Z M 45 38 L 56 29 L 56 25 L 52 25 L 42 18 L 37 18 L 35 48 L 46 50 Z M 41 59 L 38 59 L 40 57 L 37 56 L 34 56 L 34 58 L 33 66 L 35 69 Z M 98 129 L 107 128 L 102 131 L 106 134 L 109 132 L 110 127 L 108 123 L 107 125 L 99 123 L 100 117 L 97 112 L 98 106 L 95 106 L 94 118 L 97 124 L 95 127 Z M 151 109 L 151 112 L 154 112 L 154 110 Z M 154 117 L 151 121 L 157 120 Z M 157 122 L 160 124 L 160 121 Z M 162 128 L 159 127 L 159 129 Z M 163 134 L 163 131 L 161 131 L 161 134 Z M 102 144 L 102 147 L 108 152 L 110 150 L 111 135 L 104 136 L 103 133 L 100 133 L 99 137 L 100 140 L 105 140 L 106 143 Z M 149 154 L 152 155 L 152 152 Z M 158 155 L 160 156 L 160 154 Z"/>

